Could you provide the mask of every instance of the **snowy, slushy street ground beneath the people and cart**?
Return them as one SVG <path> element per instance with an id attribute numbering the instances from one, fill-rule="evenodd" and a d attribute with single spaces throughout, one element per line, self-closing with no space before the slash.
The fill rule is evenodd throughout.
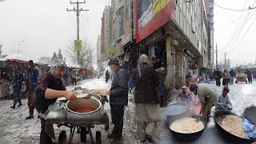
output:
<path id="1" fill-rule="evenodd" d="M 215 84 L 209 84 L 218 93 L 222 91 L 222 87 L 215 86 Z M 110 90 L 110 81 L 105 82 L 105 78 L 91 78 L 78 82 L 77 86 L 82 86 L 88 89 L 103 89 Z M 253 84 L 234 84 L 230 86 L 230 100 L 233 105 L 235 114 L 242 115 L 243 110 L 246 107 L 256 105 L 256 83 Z M 68 86 L 67 89 L 71 90 L 73 86 Z M 0 101 L 0 143 L 12 143 L 12 144 L 26 144 L 26 143 L 38 143 L 40 134 L 40 120 L 37 118 L 37 112 L 34 110 L 34 118 L 26 120 L 25 118 L 29 114 L 27 99 L 22 99 L 22 106 L 17 107 L 15 110 L 11 109 L 12 100 Z M 105 110 L 109 114 L 110 118 L 110 106 L 109 103 L 105 104 Z M 136 124 L 134 122 L 134 96 L 133 93 L 129 93 L 129 105 L 126 106 L 124 128 L 122 133 L 121 143 L 140 143 L 137 139 Z M 111 119 L 110 119 L 111 122 Z M 112 130 L 110 124 L 110 131 Z M 69 136 L 70 130 L 67 127 L 60 127 L 54 125 L 55 137 L 58 140 L 58 134 L 62 130 L 66 130 L 67 136 Z M 104 126 L 95 126 L 93 129 L 93 136 L 95 140 L 95 132 L 100 130 L 102 132 L 102 143 L 112 142 L 107 138 L 107 133 L 104 130 Z M 156 143 L 179 143 L 170 134 L 168 124 L 166 123 L 166 116 L 162 115 L 162 122 L 158 123 L 158 130 L 154 134 L 154 140 Z M 80 142 L 80 135 L 74 134 L 73 143 Z M 192 143 L 225 143 L 218 134 L 218 130 L 215 126 L 207 127 L 204 133 L 198 140 Z M 90 143 L 90 138 L 87 135 L 87 143 Z"/>

